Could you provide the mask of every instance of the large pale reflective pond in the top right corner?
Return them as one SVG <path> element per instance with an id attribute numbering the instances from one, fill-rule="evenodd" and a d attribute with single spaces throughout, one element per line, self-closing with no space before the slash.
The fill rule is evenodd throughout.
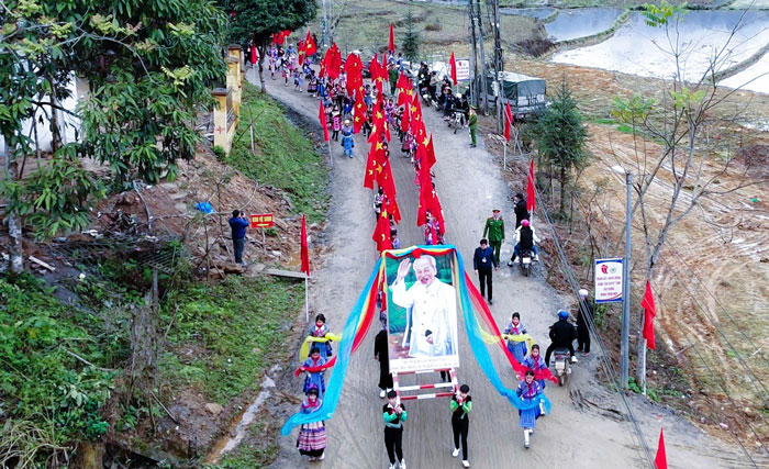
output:
<path id="1" fill-rule="evenodd" d="M 735 27 L 735 35 L 724 49 Z M 698 80 L 707 69 L 714 52 L 724 49 L 716 62 L 716 69 L 722 70 L 745 60 L 769 43 L 769 12 L 689 11 L 679 24 L 678 33 L 683 75 L 689 80 Z M 673 42 L 676 30 L 671 26 L 670 37 Z M 553 60 L 668 78 L 676 71 L 675 60 L 668 51 L 670 46 L 665 29 L 648 26 L 640 12 L 633 12 L 611 38 L 593 46 L 557 53 Z M 762 67 L 766 66 L 745 70 L 742 78 L 747 81 L 749 74 L 756 76 Z"/>

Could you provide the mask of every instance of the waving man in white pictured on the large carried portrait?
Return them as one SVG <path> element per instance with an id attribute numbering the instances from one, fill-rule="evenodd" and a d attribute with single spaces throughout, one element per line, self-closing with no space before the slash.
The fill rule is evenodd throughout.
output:
<path id="1" fill-rule="evenodd" d="M 392 284 L 392 301 L 399 306 L 412 309 L 411 321 L 403 335 L 403 346 L 410 336 L 410 357 L 454 355 L 457 344 L 456 290 L 435 277 L 438 270 L 435 257 L 430 255 L 422 255 L 414 260 L 416 283 L 406 290 L 404 278 L 411 265 L 410 259 L 401 260 Z"/>

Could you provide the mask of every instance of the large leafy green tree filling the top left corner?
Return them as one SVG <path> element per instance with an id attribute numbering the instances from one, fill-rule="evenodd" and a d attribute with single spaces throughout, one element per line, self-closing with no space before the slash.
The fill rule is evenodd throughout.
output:
<path id="1" fill-rule="evenodd" d="M 21 270 L 21 230 L 38 236 L 81 230 L 104 185 L 81 166 L 93 158 L 115 188 L 176 175 L 194 155 L 197 105 L 226 70 L 225 18 L 205 0 L 10 0 L 0 12 L 0 131 L 12 269 Z M 75 76 L 89 83 L 76 112 L 62 108 Z M 80 121 L 76 142 L 62 141 L 58 112 Z M 37 126 L 48 116 L 44 154 Z M 25 132 L 25 126 L 30 131 Z M 35 159 L 35 164 L 29 163 Z M 34 168 L 34 169 L 30 169 Z M 25 171 L 26 169 L 26 171 Z"/>

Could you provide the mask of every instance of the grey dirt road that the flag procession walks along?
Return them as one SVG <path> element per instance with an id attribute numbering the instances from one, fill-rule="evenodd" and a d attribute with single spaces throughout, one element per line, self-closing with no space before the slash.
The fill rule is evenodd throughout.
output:
<path id="1" fill-rule="evenodd" d="M 269 82 L 268 91 L 309 119 L 315 119 L 315 99 L 279 86 L 278 81 Z M 433 133 L 438 159 L 436 186 L 445 210 L 447 241 L 469 259 L 492 208 L 502 209 L 508 220 L 513 216 L 511 194 L 502 182 L 499 166 L 481 147 L 470 149 L 466 133 L 450 133 L 432 110 L 425 110 L 425 123 Z M 374 230 L 371 192 L 361 185 L 367 146 L 363 138 L 356 138 L 354 159 L 343 158 L 338 144 L 333 145 L 333 150 L 331 223 L 324 234 L 333 255 L 327 256 L 313 275 L 311 302 L 326 314 L 332 331 L 339 331 L 364 287 L 377 253 L 370 241 Z M 414 226 L 417 193 L 413 185 L 413 168 L 399 154 L 393 152 L 391 157 L 403 213 L 399 234 L 403 246 L 409 246 L 421 239 Z M 509 257 L 510 252 L 509 244 L 503 246 L 503 257 Z M 548 259 L 544 261 L 547 264 Z M 568 300 L 549 288 L 542 276 L 523 278 L 506 267 L 495 275 L 494 287 L 497 301 L 491 310 L 498 323 L 503 325 L 512 311 L 520 311 L 530 333 L 546 345 L 546 331 L 555 320 L 554 312 L 566 306 Z M 576 368 L 570 387 L 548 386 L 546 393 L 553 401 L 553 413 L 537 422 L 532 449 L 526 451 L 517 414 L 488 383 L 465 335 L 461 332 L 460 335 L 458 379 L 469 383 L 475 402 L 469 436 L 472 467 L 499 468 L 519 464 L 526 467 L 645 467 L 631 426 L 617 417 L 623 412 L 615 394 L 594 383 L 595 353 Z M 369 334 L 367 342 L 353 356 L 336 414 L 326 422 L 328 448 L 323 462 L 326 467 L 387 467 L 380 414 L 382 400 L 376 387 L 378 365 L 372 359 L 372 336 Z M 506 384 L 513 387 L 514 377 L 509 366 L 502 364 L 501 354 L 494 350 L 492 356 Z M 294 381 L 290 393 L 297 393 L 301 387 L 299 379 Z M 579 404 L 575 403 L 572 395 Z M 744 456 L 737 449 L 714 442 L 690 423 L 646 401 L 632 401 L 653 450 L 657 446 L 660 422 L 665 426 L 671 467 L 750 467 L 742 462 Z M 459 467 L 459 461 L 450 456 L 447 401 L 422 401 L 406 406 L 410 415 L 405 425 L 404 454 L 409 467 Z M 299 457 L 293 443 L 293 437 L 280 439 L 280 454 L 274 467 L 310 467 Z"/>

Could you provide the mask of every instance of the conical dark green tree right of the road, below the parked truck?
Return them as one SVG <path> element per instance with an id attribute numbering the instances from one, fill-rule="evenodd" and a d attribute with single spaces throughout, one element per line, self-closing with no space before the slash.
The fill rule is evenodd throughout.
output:
<path id="1" fill-rule="evenodd" d="M 587 136 L 588 130 L 582 123 L 577 102 L 564 81 L 553 103 L 539 116 L 535 136 L 540 160 L 558 171 L 561 214 L 565 213 L 566 186 L 571 170 L 579 167 L 586 157 Z"/>

